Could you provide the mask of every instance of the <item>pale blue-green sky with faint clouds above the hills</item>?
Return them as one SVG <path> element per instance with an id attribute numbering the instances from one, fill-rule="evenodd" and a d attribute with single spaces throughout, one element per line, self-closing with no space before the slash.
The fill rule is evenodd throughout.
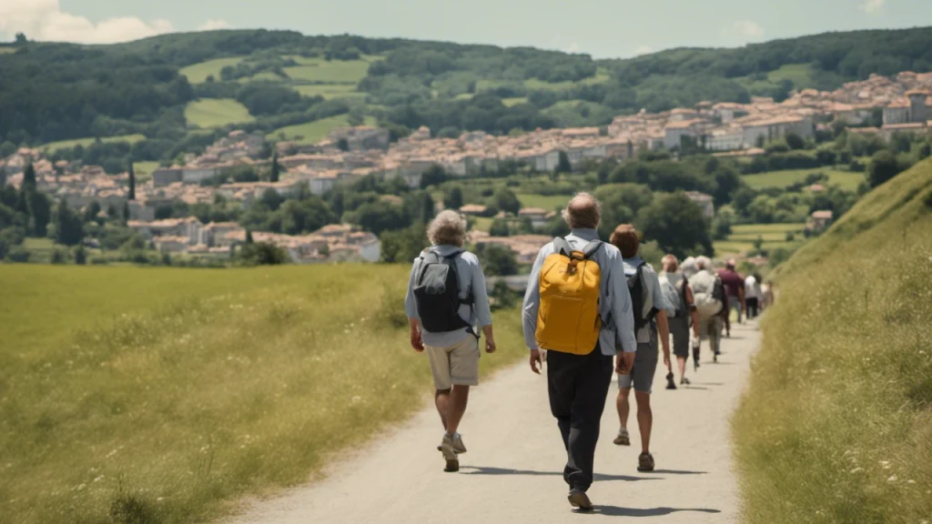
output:
<path id="1" fill-rule="evenodd" d="M 291 29 L 631 57 L 803 34 L 932 25 L 932 0 L 0 0 L 0 40 L 124 42 Z"/>

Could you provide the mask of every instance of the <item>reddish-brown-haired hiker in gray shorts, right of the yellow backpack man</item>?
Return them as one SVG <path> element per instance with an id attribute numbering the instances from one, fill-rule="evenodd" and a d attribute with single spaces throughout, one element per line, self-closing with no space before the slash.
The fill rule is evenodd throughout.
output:
<path id="1" fill-rule="evenodd" d="M 671 375 L 673 372 L 670 363 L 670 331 L 666 318 L 668 306 L 657 273 L 650 264 L 637 255 L 640 240 L 634 226 L 623 224 L 615 228 L 611 234 L 611 243 L 622 252 L 624 276 L 631 296 L 635 337 L 637 338 L 634 367 L 630 373 L 618 376 L 616 407 L 621 427 L 614 442 L 620 446 L 631 445 L 631 437 L 627 430 L 628 415 L 631 411 L 628 397 L 634 387 L 637 402 L 637 428 L 640 430 L 641 437 L 641 453 L 637 457 L 637 471 L 653 471 L 651 390 L 653 376 L 657 371 L 658 338 L 664 351 L 664 365 Z"/>

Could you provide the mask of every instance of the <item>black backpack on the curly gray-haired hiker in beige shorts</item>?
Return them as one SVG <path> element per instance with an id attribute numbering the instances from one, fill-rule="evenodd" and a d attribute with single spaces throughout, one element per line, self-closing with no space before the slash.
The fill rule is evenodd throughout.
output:
<path id="1" fill-rule="evenodd" d="M 446 333 L 466 329 L 473 333 L 473 326 L 459 316 L 459 306 L 473 306 L 473 291 L 465 299 L 459 298 L 459 274 L 457 272 L 458 251 L 441 256 L 430 251 L 422 255 L 417 280 L 414 284 L 414 299 L 418 306 L 420 324 L 430 333 Z M 473 333 L 474 336 L 474 333 Z"/>

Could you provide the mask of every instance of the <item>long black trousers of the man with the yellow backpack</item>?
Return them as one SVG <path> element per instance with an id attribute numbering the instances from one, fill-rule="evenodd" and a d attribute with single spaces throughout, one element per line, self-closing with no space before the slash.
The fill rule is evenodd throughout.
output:
<path id="1" fill-rule="evenodd" d="M 597 345 L 587 355 L 547 352 L 550 411 L 567 448 L 563 479 L 570 489 L 585 491 L 592 485 L 599 421 L 613 371 L 612 358 Z"/>

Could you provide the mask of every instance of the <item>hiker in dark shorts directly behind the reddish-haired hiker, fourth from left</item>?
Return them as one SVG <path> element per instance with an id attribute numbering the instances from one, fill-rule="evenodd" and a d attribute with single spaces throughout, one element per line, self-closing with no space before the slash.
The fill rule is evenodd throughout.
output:
<path id="1" fill-rule="evenodd" d="M 661 263 L 664 271 L 660 273 L 660 286 L 664 290 L 667 306 L 671 307 L 671 310 L 666 311 L 666 318 L 673 338 L 673 354 L 677 357 L 679 384 L 689 385 L 690 379 L 686 378 L 686 361 L 690 356 L 690 346 L 693 366 L 695 369 L 699 367 L 699 313 L 696 312 L 692 301 L 692 288 L 688 277 L 685 272 L 679 270 L 676 255 L 666 255 Z M 675 388 L 676 386 L 667 386 L 667 389 Z"/>

